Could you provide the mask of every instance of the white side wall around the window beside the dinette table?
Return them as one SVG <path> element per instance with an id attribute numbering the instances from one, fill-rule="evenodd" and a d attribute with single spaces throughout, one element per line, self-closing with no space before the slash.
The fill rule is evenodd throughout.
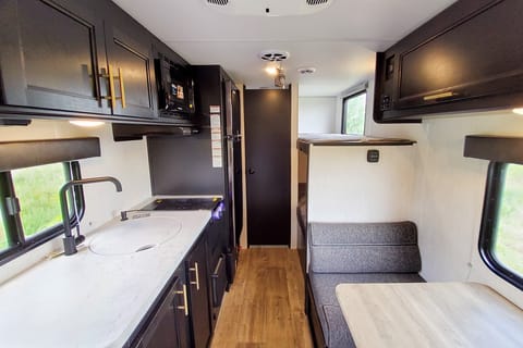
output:
<path id="1" fill-rule="evenodd" d="M 427 281 L 487 284 L 523 307 L 523 293 L 489 271 L 479 258 L 478 235 L 488 162 L 463 157 L 471 134 L 523 136 L 523 116 L 511 111 L 429 117 L 418 125 L 368 123 L 368 134 L 417 141 L 412 165 L 422 275 Z"/>

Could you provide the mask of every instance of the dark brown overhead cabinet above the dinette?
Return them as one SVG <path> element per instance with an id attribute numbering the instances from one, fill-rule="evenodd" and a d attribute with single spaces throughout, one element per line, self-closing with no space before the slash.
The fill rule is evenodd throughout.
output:
<path id="1" fill-rule="evenodd" d="M 521 13 L 521 0 L 461 0 L 378 53 L 375 120 L 523 104 Z"/>

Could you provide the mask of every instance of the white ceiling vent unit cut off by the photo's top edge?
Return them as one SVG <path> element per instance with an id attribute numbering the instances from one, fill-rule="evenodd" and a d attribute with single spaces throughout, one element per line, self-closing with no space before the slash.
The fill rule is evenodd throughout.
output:
<path id="1" fill-rule="evenodd" d="M 230 15 L 306 15 L 330 7 L 333 0 L 203 0 L 207 7 Z"/>

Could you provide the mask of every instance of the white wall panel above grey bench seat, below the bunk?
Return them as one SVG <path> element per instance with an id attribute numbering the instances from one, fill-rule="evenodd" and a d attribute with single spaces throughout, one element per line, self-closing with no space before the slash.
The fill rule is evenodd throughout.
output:
<path id="1" fill-rule="evenodd" d="M 367 162 L 367 150 L 379 162 Z M 308 220 L 384 222 L 409 220 L 415 178 L 413 146 L 312 146 Z"/>

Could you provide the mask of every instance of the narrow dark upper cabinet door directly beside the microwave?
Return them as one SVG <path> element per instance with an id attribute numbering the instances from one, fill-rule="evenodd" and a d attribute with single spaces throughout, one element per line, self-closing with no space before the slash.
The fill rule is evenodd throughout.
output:
<path id="1" fill-rule="evenodd" d="M 108 3 L 106 41 L 108 65 L 114 75 L 113 114 L 153 117 L 156 113 L 154 91 L 154 37 L 113 3 Z"/>

